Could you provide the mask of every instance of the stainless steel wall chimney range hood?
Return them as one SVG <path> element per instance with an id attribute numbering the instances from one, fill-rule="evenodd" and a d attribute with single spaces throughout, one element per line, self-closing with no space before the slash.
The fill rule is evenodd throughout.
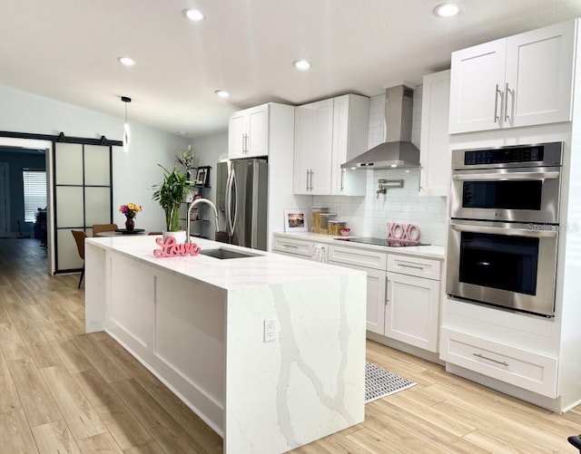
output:
<path id="1" fill-rule="evenodd" d="M 341 169 L 419 168 L 419 150 L 411 143 L 413 96 L 404 85 L 386 91 L 385 141 L 341 164 Z"/>

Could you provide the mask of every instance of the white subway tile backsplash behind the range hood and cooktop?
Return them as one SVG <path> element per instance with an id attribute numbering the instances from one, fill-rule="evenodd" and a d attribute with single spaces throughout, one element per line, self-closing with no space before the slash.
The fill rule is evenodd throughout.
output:
<path id="1" fill-rule="evenodd" d="M 369 148 L 383 141 L 385 94 L 373 96 L 369 108 Z M 421 87 L 414 91 L 411 141 L 419 148 Z M 347 222 L 352 235 L 385 237 L 389 222 L 416 224 L 421 241 L 444 246 L 448 229 L 447 198 L 419 196 L 419 169 L 354 170 L 367 172 L 365 197 L 314 196 L 313 206 L 333 208 Z M 379 194 L 378 179 L 403 179 L 403 188 Z"/>

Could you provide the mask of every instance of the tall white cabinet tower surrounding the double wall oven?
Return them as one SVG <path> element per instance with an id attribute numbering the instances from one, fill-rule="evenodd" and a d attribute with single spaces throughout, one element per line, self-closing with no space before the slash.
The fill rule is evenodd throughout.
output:
<path id="1" fill-rule="evenodd" d="M 564 152 L 554 315 L 445 297 L 440 359 L 448 372 L 556 412 L 581 404 L 580 20 L 458 51 L 451 67 L 451 149 L 555 141 Z"/>

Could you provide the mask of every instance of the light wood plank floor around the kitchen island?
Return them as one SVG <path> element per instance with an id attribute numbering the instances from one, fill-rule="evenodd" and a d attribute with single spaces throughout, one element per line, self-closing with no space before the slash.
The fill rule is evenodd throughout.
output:
<path id="1" fill-rule="evenodd" d="M 79 275 L 48 276 L 34 239 L 0 239 L 0 452 L 221 452 L 222 439 L 105 333 L 84 333 Z M 564 415 L 378 343 L 368 361 L 418 384 L 294 453 L 577 452 Z M 580 377 L 581 380 L 581 377 Z"/>

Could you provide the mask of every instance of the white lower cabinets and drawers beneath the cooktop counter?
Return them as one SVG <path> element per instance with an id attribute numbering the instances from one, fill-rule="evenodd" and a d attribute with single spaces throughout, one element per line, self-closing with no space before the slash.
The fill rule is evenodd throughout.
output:
<path id="1" fill-rule="evenodd" d="M 366 328 L 428 352 L 438 352 L 441 262 L 355 246 L 318 244 L 275 234 L 272 250 L 310 259 L 327 247 L 327 263 L 367 273 Z"/>

